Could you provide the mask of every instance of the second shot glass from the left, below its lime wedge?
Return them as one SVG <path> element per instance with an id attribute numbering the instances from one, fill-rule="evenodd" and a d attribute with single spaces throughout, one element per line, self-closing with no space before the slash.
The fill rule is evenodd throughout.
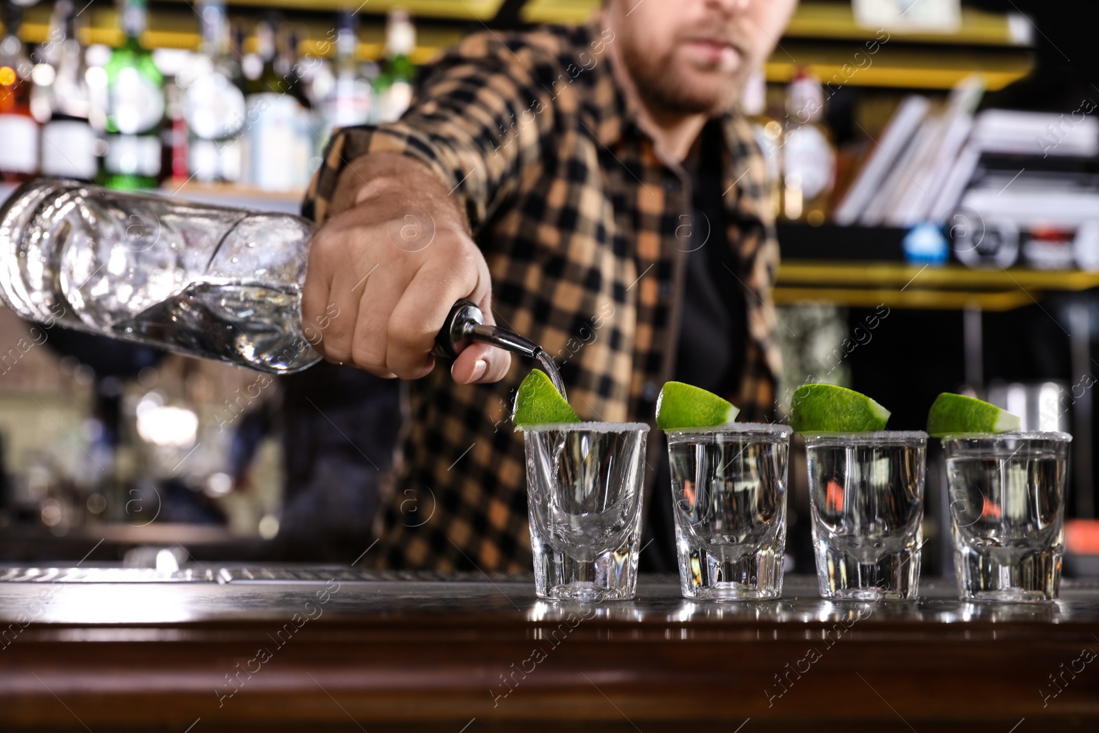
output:
<path id="1" fill-rule="evenodd" d="M 782 595 L 788 425 L 730 423 L 668 433 L 684 598 Z"/>

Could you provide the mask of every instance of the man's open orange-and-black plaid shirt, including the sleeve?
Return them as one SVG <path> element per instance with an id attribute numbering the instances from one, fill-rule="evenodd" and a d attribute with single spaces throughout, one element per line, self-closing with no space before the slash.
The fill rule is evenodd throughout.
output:
<path id="1" fill-rule="evenodd" d="M 555 355 L 581 419 L 652 422 L 675 366 L 685 254 L 697 246 L 685 229 L 692 193 L 619 89 L 613 42 L 597 22 L 470 35 L 423 69 L 400 122 L 334 136 L 303 212 L 324 222 L 340 173 L 357 156 L 426 164 L 468 214 L 497 323 Z M 729 243 L 741 271 L 719 282 L 743 291 L 751 336 L 740 393 L 726 397 L 758 420 L 774 410 L 779 371 L 778 243 L 752 127 L 735 114 L 722 126 Z M 533 366 L 515 358 L 495 385 L 457 386 L 445 368 L 409 384 L 380 552 L 371 553 L 379 566 L 530 571 L 523 441 L 509 414 Z"/>

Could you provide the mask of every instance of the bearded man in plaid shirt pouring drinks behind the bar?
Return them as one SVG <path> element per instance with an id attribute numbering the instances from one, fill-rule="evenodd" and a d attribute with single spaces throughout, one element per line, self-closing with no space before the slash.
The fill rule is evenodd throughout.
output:
<path id="1" fill-rule="evenodd" d="M 778 244 L 733 101 L 795 2 L 608 0 L 581 27 L 470 35 L 399 122 L 335 135 L 304 204 L 303 316 L 329 360 L 410 380 L 363 563 L 530 570 L 508 418 L 534 365 L 474 344 L 435 368 L 459 298 L 554 355 L 581 419 L 651 421 L 674 378 L 770 414 Z M 670 557 L 666 484 L 648 534 Z"/>

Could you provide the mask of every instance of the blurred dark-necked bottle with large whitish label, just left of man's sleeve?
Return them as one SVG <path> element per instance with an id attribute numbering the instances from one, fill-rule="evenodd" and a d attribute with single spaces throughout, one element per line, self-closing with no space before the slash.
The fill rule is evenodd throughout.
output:
<path id="1" fill-rule="evenodd" d="M 276 23 L 265 19 L 256 26 L 263 69 L 247 82 L 248 182 L 268 191 L 300 191 L 309 184 L 313 133 L 293 68 L 295 44 L 284 43 L 281 53 L 276 53 Z"/>

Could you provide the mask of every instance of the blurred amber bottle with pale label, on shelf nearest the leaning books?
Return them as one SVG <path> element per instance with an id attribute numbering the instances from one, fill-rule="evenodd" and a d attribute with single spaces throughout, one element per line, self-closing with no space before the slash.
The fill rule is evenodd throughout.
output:
<path id="1" fill-rule="evenodd" d="M 782 137 L 782 218 L 813 225 L 824 223 L 829 193 L 835 184 L 835 147 L 824 116 L 820 80 L 799 70 L 786 88 Z"/>

